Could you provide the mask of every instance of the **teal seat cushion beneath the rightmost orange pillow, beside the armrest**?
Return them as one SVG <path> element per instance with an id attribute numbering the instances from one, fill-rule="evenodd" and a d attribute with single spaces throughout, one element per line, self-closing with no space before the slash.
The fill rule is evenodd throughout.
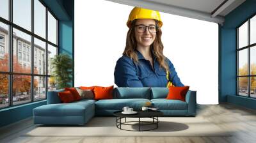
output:
<path id="1" fill-rule="evenodd" d="M 159 110 L 187 110 L 188 104 L 181 100 L 152 99 L 154 107 Z"/>

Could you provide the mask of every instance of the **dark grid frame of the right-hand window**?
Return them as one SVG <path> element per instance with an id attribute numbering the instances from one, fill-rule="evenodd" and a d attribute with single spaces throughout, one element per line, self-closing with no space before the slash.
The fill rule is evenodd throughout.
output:
<path id="1" fill-rule="evenodd" d="M 252 43 L 250 44 L 250 20 L 253 18 L 253 17 L 256 17 L 256 13 L 254 13 L 253 15 L 251 15 L 248 19 L 246 19 L 244 22 L 242 22 L 239 26 L 236 27 L 236 95 L 237 96 L 243 96 L 241 94 L 239 94 L 239 77 L 247 77 L 247 96 L 243 96 L 243 97 L 246 97 L 246 98 L 253 98 L 255 99 L 256 97 L 252 97 L 251 96 L 251 78 L 252 77 L 256 77 L 256 75 L 252 75 L 251 74 L 251 54 L 250 54 L 250 51 L 253 47 L 256 46 L 256 43 Z M 244 47 L 241 47 L 239 49 L 239 27 L 243 26 L 243 24 L 245 24 L 246 22 L 248 22 L 247 24 L 247 29 L 248 29 L 248 33 L 247 33 L 247 36 L 248 36 L 248 40 L 247 40 L 247 45 L 244 46 Z M 247 63 L 248 63 L 248 67 L 247 67 L 247 75 L 239 75 L 239 51 L 240 50 L 244 50 L 244 49 L 247 49 Z"/>

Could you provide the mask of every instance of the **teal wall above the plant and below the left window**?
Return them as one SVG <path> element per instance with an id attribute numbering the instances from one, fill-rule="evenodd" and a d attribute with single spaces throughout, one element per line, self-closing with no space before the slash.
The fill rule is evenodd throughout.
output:
<path id="1" fill-rule="evenodd" d="M 59 52 L 66 53 L 72 57 L 72 59 L 74 59 L 74 0 L 42 1 L 51 9 L 51 11 L 59 20 Z M 74 81 L 74 71 L 72 76 L 72 81 Z M 70 84 L 74 86 L 74 82 L 72 81 L 70 81 Z M 1 109 L 0 127 L 33 116 L 33 109 L 45 104 L 46 100 L 41 102 L 28 103 L 25 105 L 18 105 L 8 109 Z"/>

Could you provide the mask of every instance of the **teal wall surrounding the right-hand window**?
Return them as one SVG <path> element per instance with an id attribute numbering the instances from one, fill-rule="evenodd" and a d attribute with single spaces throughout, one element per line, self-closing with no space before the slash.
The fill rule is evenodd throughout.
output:
<path id="1" fill-rule="evenodd" d="M 234 103 L 255 109 L 256 102 L 250 98 L 236 96 L 236 27 L 256 14 L 256 0 L 247 0 L 225 17 L 220 31 L 220 102 Z"/>

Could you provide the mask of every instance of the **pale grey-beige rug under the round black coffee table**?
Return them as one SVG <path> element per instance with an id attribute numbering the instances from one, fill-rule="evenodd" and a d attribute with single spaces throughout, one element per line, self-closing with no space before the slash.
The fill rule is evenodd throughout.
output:
<path id="1" fill-rule="evenodd" d="M 148 121 L 144 119 L 143 121 Z M 124 120 L 122 120 L 124 121 Z M 127 121 L 138 121 L 129 118 Z M 145 132 L 131 132 L 116 128 L 115 117 L 93 117 L 84 126 L 36 126 L 23 136 L 47 137 L 80 137 L 80 136 L 230 136 L 230 132 L 222 130 L 216 124 L 202 117 L 159 117 L 159 127 Z M 134 123 L 136 124 L 136 123 Z M 147 130 L 154 126 L 143 126 Z M 127 130 L 138 130 L 137 125 L 124 125 Z"/>

